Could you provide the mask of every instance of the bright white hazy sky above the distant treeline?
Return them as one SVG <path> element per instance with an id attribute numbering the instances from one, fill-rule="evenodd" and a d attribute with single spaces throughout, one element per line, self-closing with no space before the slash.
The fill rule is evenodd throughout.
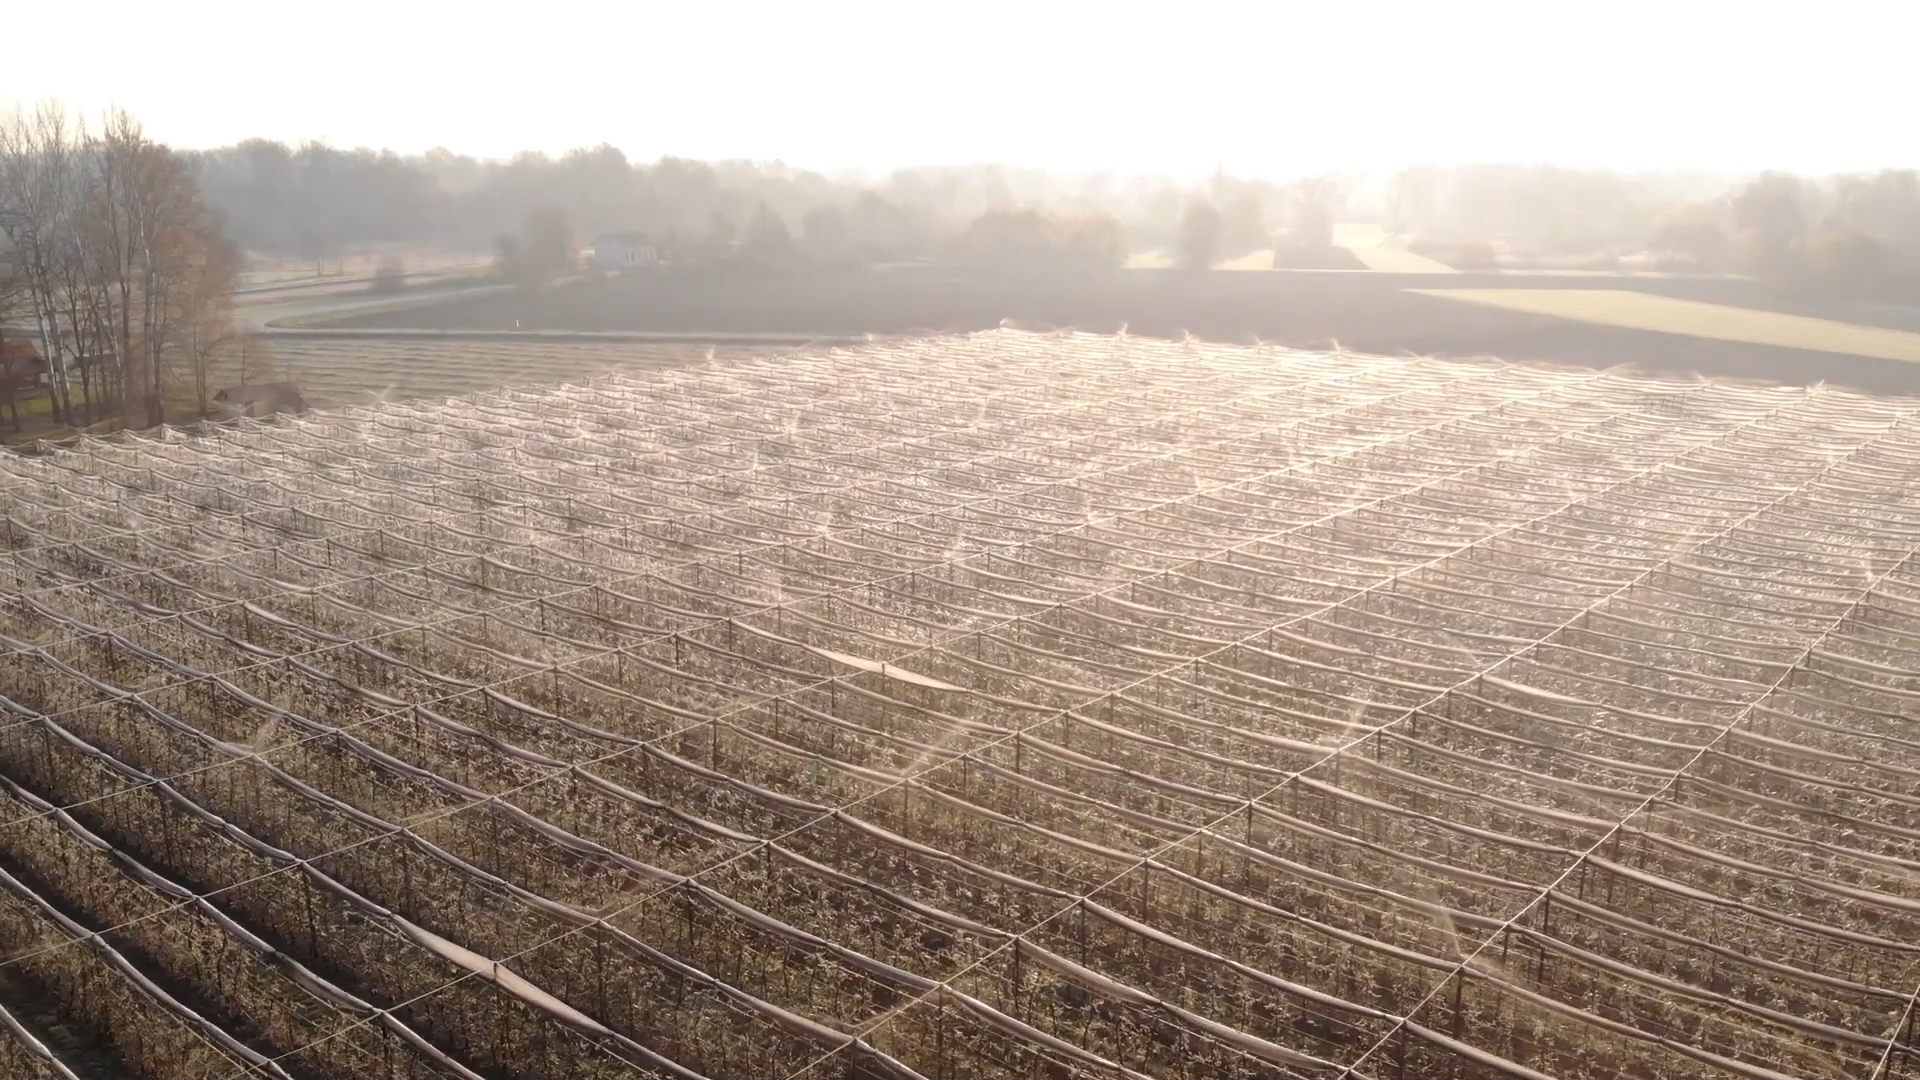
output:
<path id="1" fill-rule="evenodd" d="M 13 4 L 0 100 L 167 142 L 1294 175 L 1920 165 L 1912 0 Z"/>

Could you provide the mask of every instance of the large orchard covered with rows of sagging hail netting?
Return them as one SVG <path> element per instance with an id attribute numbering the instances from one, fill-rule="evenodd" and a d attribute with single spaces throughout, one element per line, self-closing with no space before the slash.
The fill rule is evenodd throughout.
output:
<path id="1" fill-rule="evenodd" d="M 1002 331 L 8 457 L 0 972 L 150 1074 L 1905 1076 L 1914 405 Z"/>

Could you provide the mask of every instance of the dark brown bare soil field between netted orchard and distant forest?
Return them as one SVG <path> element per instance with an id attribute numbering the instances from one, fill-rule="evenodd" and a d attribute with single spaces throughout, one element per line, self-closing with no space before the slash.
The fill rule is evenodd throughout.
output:
<path id="1" fill-rule="evenodd" d="M 540 294 L 349 315 L 330 327 L 409 331 L 899 334 L 1014 323 L 1221 342 L 1340 344 L 1386 356 L 1500 356 L 1592 367 L 1695 371 L 1778 382 L 1916 390 L 1920 367 L 1843 354 L 1582 325 L 1413 296 L 1430 275 L 1116 271 L 1039 277 L 977 271 L 839 275 L 659 275 Z M 1757 284 L 1599 275 L 1450 275 L 1459 288 L 1638 288 L 1686 300 L 1776 307 Z M 1797 309 L 1816 313 L 1807 304 Z M 1828 313 L 1826 317 L 1845 317 Z"/>

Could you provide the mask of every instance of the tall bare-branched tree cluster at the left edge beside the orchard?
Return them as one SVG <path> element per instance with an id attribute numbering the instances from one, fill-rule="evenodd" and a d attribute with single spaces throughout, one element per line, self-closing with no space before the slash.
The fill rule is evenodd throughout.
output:
<path id="1" fill-rule="evenodd" d="M 38 336 L 54 423 L 154 427 L 169 402 L 205 415 L 209 371 L 242 348 L 238 269 L 194 161 L 132 115 L 0 115 L 0 325 Z M 21 373 L 4 375 L 12 398 Z"/>

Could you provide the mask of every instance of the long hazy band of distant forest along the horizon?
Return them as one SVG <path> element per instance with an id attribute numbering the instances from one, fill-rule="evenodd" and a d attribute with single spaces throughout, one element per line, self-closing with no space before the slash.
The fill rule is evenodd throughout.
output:
<path id="1" fill-rule="evenodd" d="M 497 250 L 545 215 L 580 244 L 641 231 L 678 252 L 762 248 L 845 259 L 954 252 L 1187 263 L 1323 248 L 1373 221 L 1415 250 L 1476 265 L 1759 273 L 1908 288 L 1920 177 L 1628 175 L 1530 165 L 1409 167 L 1390 177 L 1204 184 L 977 167 L 852 183 L 762 161 L 630 161 L 612 146 L 484 161 L 248 140 L 188 154 L 207 206 L 246 252 L 317 263 L 372 250 Z"/>

